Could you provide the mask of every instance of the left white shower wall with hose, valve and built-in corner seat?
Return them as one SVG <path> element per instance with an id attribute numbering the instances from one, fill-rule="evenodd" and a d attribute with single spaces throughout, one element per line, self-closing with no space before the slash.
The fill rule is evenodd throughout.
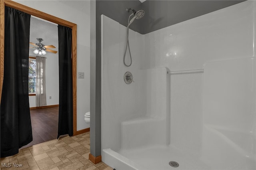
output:
<path id="1" fill-rule="evenodd" d="M 165 67 L 141 69 L 143 35 L 130 30 L 132 65 L 123 64 L 126 27 L 102 15 L 102 148 L 169 144 L 170 77 Z M 126 63 L 129 63 L 126 52 Z M 131 84 L 124 73 L 133 75 Z M 137 136 L 137 137 L 136 137 Z M 142 139 L 143 137 L 143 139 Z"/>

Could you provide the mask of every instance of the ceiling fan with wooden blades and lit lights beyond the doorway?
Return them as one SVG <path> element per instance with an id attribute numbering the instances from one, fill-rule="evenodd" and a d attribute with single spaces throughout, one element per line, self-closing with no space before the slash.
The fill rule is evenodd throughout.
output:
<path id="1" fill-rule="evenodd" d="M 36 40 L 38 40 L 39 43 L 32 43 L 29 42 L 30 44 L 34 45 L 34 47 L 30 47 L 30 48 L 36 48 L 33 52 L 35 54 L 39 54 L 39 55 L 45 55 L 46 51 L 49 51 L 51 53 L 57 53 L 58 51 L 49 49 L 49 48 L 56 48 L 54 47 L 54 45 L 44 45 L 41 42 L 44 41 L 42 38 L 36 38 Z"/>

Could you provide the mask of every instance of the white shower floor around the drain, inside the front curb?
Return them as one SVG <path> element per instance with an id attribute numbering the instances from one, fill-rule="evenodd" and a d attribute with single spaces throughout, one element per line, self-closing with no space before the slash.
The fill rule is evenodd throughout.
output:
<path id="1" fill-rule="evenodd" d="M 153 146 L 134 150 L 120 150 L 120 154 L 134 162 L 140 162 L 148 170 L 206 170 L 210 169 L 196 156 L 184 154 L 174 147 Z M 169 165 L 170 161 L 178 162 L 178 167 Z"/>

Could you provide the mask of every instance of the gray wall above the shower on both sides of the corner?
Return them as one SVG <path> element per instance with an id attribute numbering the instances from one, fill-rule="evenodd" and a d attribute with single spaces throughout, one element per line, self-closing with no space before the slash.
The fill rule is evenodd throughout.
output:
<path id="1" fill-rule="evenodd" d="M 127 26 L 129 15 L 126 8 L 144 10 L 145 16 L 135 20 L 130 29 L 147 34 L 179 22 L 183 22 L 228 6 L 244 2 L 245 0 L 97 0 L 96 25 L 100 24 L 103 14 Z"/>

